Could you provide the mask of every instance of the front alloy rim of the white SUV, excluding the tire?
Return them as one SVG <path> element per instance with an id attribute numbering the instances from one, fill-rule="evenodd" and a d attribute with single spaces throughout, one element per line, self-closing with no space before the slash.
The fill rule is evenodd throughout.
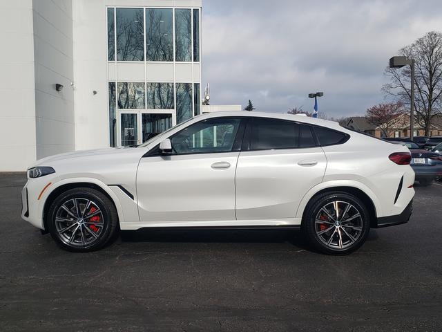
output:
<path id="1" fill-rule="evenodd" d="M 90 199 L 69 199 L 59 206 L 55 214 L 58 237 L 68 246 L 92 245 L 104 232 L 104 226 L 102 210 Z"/>

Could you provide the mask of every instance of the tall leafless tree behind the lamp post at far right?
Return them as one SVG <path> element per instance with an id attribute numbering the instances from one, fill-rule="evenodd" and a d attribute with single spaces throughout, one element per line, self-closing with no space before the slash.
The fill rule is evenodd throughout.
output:
<path id="1" fill-rule="evenodd" d="M 425 136 L 428 136 L 434 116 L 441 114 L 442 33 L 427 33 L 413 44 L 401 48 L 398 53 L 416 61 L 415 116 L 416 122 L 425 128 Z M 386 68 L 385 74 L 390 77 L 391 82 L 383 86 L 383 91 L 409 108 L 411 66 L 403 69 Z"/>

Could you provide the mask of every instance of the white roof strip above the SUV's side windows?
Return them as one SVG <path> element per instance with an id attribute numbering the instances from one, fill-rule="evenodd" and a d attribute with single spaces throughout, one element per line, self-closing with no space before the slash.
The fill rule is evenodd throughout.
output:
<path id="1" fill-rule="evenodd" d="M 309 116 L 305 116 L 305 115 L 301 115 L 301 114 L 271 113 L 271 112 L 256 112 L 256 111 L 220 111 L 220 112 L 204 113 L 198 117 L 200 117 L 200 118 L 218 118 L 220 116 L 240 116 L 240 117 L 248 117 L 248 118 L 272 118 L 272 119 L 302 122 L 302 123 L 307 123 L 307 124 L 316 124 L 318 126 L 332 128 L 332 129 L 339 129 L 339 130 L 344 129 L 344 127 L 341 127 L 340 124 L 338 124 L 338 122 L 336 122 L 336 121 L 311 118 Z"/>

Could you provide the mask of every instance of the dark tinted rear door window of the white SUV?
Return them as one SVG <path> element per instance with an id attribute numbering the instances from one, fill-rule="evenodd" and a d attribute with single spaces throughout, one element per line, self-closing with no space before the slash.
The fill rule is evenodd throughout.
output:
<path id="1" fill-rule="evenodd" d="M 297 149 L 315 146 L 313 133 L 307 125 L 268 118 L 251 120 L 251 150 Z"/>

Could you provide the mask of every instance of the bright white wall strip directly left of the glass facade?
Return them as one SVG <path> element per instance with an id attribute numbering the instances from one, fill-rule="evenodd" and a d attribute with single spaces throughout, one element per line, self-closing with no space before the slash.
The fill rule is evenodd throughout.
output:
<path id="1" fill-rule="evenodd" d="M 104 0 L 73 1 L 75 149 L 109 146 Z M 93 91 L 97 91 L 94 95 Z"/>

